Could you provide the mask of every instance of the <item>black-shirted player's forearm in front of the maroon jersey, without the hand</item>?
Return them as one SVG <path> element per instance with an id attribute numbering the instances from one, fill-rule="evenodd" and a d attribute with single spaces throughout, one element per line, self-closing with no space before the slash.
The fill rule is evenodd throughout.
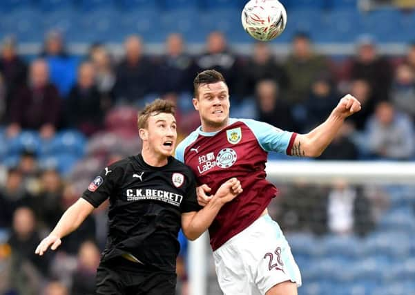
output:
<path id="1" fill-rule="evenodd" d="M 223 203 L 219 198 L 213 197 L 212 200 L 206 204 L 206 206 L 198 211 L 186 229 L 183 227 L 183 232 L 186 238 L 189 240 L 195 240 L 199 238 L 206 229 L 208 229 L 215 217 L 218 215 Z"/>

